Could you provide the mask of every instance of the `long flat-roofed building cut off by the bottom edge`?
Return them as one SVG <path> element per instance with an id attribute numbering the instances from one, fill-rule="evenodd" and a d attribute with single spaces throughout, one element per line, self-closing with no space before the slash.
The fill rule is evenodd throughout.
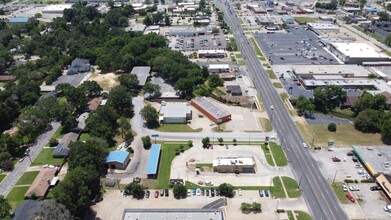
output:
<path id="1" fill-rule="evenodd" d="M 122 220 L 224 220 L 220 209 L 125 209 Z"/>

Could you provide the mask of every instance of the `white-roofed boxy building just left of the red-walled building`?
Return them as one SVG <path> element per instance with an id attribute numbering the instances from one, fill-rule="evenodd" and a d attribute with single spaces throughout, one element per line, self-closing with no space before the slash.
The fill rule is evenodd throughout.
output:
<path id="1" fill-rule="evenodd" d="M 164 124 L 185 124 L 191 120 L 191 106 L 183 102 L 162 102 L 159 121 Z"/>

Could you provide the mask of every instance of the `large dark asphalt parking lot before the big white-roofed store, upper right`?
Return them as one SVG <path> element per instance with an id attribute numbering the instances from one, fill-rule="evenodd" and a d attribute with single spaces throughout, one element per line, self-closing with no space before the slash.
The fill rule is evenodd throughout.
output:
<path id="1" fill-rule="evenodd" d="M 324 50 L 312 31 L 305 30 L 304 26 L 291 27 L 288 31 L 289 33 L 254 34 L 263 53 L 273 64 L 338 64 Z"/>

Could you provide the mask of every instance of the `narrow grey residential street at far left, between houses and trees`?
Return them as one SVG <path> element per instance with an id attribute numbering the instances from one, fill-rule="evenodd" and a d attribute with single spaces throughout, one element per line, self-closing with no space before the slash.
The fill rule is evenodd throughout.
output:
<path id="1" fill-rule="evenodd" d="M 42 148 L 49 142 L 50 138 L 56 132 L 56 130 L 60 127 L 60 123 L 52 122 L 52 130 L 42 134 L 38 137 L 36 144 L 30 147 L 30 158 L 31 161 L 38 156 L 39 152 L 41 152 Z M 8 173 L 5 179 L 0 183 L 0 195 L 7 196 L 11 191 L 12 187 L 16 184 L 19 178 L 23 175 L 23 173 L 27 170 L 27 168 L 31 165 L 31 161 L 28 157 L 26 157 L 22 162 L 18 162 L 15 165 L 15 168 L 12 172 Z"/>

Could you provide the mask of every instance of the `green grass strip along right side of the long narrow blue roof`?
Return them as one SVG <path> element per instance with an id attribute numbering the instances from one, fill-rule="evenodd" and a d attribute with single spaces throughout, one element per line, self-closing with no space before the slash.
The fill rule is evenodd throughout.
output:
<path id="1" fill-rule="evenodd" d="M 160 155 L 159 174 L 157 179 L 143 179 L 142 183 L 150 189 L 165 189 L 169 187 L 171 162 L 176 157 L 175 153 L 181 144 L 163 144 Z M 182 144 L 183 150 L 188 150 L 189 145 Z"/>

